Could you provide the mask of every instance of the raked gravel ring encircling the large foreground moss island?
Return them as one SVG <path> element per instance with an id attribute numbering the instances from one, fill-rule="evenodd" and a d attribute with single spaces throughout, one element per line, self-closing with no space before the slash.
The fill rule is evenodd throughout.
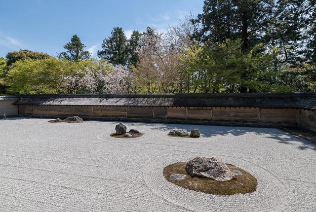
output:
<path id="1" fill-rule="evenodd" d="M 212 155 L 251 173 L 258 180 L 257 190 L 249 194 L 218 196 L 191 191 L 168 182 L 163 168 L 169 164 L 188 161 L 196 154 L 175 154 L 152 160 L 143 170 L 147 186 L 160 198 L 187 210 L 199 212 L 282 211 L 287 205 L 287 190 L 281 179 L 259 165 L 241 158 Z M 209 155 L 208 155 L 209 156 Z"/>

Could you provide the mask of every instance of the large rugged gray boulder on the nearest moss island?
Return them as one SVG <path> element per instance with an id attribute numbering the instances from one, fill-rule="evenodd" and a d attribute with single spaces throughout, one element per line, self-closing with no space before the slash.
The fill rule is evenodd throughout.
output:
<path id="1" fill-rule="evenodd" d="M 216 158 L 196 157 L 187 163 L 186 172 L 191 177 L 208 177 L 217 181 L 227 181 L 235 177 L 228 166 Z"/>

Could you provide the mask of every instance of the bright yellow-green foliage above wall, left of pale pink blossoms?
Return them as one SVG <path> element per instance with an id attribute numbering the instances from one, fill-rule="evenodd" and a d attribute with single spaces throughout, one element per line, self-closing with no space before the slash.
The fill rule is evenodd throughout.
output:
<path id="1" fill-rule="evenodd" d="M 26 59 L 17 61 L 7 75 L 10 94 L 74 93 L 78 81 L 89 68 L 100 70 L 102 64 L 95 60 L 79 61 Z"/>

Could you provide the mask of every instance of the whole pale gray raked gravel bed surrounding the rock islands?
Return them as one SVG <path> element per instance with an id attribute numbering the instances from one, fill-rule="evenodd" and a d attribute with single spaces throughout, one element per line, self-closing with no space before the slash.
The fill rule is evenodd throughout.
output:
<path id="1" fill-rule="evenodd" d="M 1 212 L 313 212 L 316 146 L 277 129 L 126 122 L 143 137 L 110 137 L 116 122 L 0 119 Z M 198 128 L 200 139 L 168 137 Z M 216 196 L 168 182 L 163 168 L 217 157 L 258 179 Z"/>

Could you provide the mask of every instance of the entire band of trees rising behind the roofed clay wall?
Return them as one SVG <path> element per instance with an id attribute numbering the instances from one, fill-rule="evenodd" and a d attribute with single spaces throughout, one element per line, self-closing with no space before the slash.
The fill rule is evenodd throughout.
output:
<path id="1" fill-rule="evenodd" d="M 7 66 L 0 60 L 0 89 L 20 94 L 316 92 L 316 0 L 204 0 L 201 14 L 185 16 L 164 31 L 147 27 L 127 39 L 115 27 L 103 40 L 99 60 L 89 59 L 84 47 L 74 35 L 59 59 L 9 52 Z"/>

